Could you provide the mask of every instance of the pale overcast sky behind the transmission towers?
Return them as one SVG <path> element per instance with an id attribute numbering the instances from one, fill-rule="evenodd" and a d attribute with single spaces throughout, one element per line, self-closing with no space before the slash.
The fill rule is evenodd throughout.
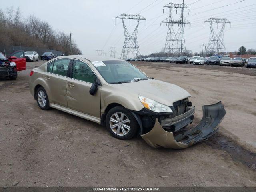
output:
<path id="1" fill-rule="evenodd" d="M 202 44 L 208 43 L 210 28 L 204 21 L 210 17 L 227 18 L 231 22 L 225 28 L 224 44 L 227 51 L 235 51 L 243 45 L 246 49 L 256 48 L 256 0 L 184 0 L 190 14 L 184 12 L 191 27 L 185 27 L 186 49 L 202 51 Z M 95 54 L 103 49 L 110 56 L 109 47 L 115 46 L 120 57 L 124 44 L 121 20 L 114 18 L 122 13 L 141 14 L 147 19 L 147 27 L 142 20 L 138 29 L 138 44 L 141 54 L 159 52 L 164 48 L 167 26 L 160 22 L 168 17 L 163 6 L 169 0 L 1 0 L 1 8 L 20 7 L 24 18 L 34 15 L 47 21 L 54 30 L 72 33 L 73 40 L 83 54 Z M 172 0 L 181 3 L 182 0 Z M 238 2 L 238 3 L 236 3 Z M 229 5 L 231 4 L 231 5 Z M 227 5 L 227 6 L 226 6 Z M 221 6 L 223 6 L 221 8 Z M 179 12 L 178 12 L 179 14 Z M 174 18 L 177 18 L 175 10 Z M 127 21 L 129 30 L 135 22 Z M 177 27 L 175 27 L 177 28 Z M 219 27 L 220 28 L 220 27 Z M 216 26 L 217 29 L 217 26 Z"/>

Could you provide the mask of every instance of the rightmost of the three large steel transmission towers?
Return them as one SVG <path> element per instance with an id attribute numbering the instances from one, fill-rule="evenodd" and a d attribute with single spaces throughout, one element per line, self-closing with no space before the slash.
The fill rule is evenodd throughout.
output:
<path id="1" fill-rule="evenodd" d="M 210 23 L 210 38 L 209 38 L 209 43 L 208 46 L 206 48 L 206 53 L 207 54 L 214 54 L 214 53 L 219 53 L 222 50 L 226 51 L 226 47 L 224 45 L 224 29 L 225 29 L 225 25 L 226 23 L 228 23 L 230 25 L 231 28 L 231 23 L 229 20 L 227 20 L 226 18 L 222 18 L 222 19 L 216 19 L 216 18 L 210 18 L 208 20 L 206 20 L 204 22 L 204 24 L 208 22 Z M 218 28 L 218 24 L 221 24 L 221 28 L 219 32 L 216 32 L 214 30 L 213 24 L 217 23 L 217 28 Z"/>

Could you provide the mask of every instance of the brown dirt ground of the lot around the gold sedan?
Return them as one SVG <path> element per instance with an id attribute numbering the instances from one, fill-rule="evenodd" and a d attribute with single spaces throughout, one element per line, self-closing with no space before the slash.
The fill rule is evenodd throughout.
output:
<path id="1" fill-rule="evenodd" d="M 106 128 L 59 110 L 40 110 L 28 77 L 42 63 L 27 62 L 17 80 L 0 79 L 0 186 L 256 186 L 255 69 L 133 62 L 148 76 L 188 90 L 195 123 L 202 105 L 225 105 L 217 134 L 166 150 L 142 138 L 115 139 Z"/>

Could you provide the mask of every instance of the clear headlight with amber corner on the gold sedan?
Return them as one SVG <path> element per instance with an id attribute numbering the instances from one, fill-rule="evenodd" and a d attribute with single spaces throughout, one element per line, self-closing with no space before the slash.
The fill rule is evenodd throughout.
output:
<path id="1" fill-rule="evenodd" d="M 144 105 L 145 108 L 160 113 L 172 113 L 172 109 L 164 104 L 158 103 L 152 99 L 146 98 L 144 96 L 139 95 L 140 102 Z"/>

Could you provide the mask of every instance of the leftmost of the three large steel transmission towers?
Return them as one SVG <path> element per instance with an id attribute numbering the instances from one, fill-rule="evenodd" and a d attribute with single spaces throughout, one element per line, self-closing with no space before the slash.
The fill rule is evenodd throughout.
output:
<path id="1" fill-rule="evenodd" d="M 121 59 L 126 59 L 128 52 L 132 53 L 132 56 L 136 58 L 138 55 L 140 55 L 140 48 L 137 41 L 139 23 L 140 23 L 140 20 L 146 21 L 146 19 L 139 14 L 137 15 L 121 14 L 115 18 L 115 24 L 116 24 L 116 19 L 122 19 L 123 27 L 124 27 L 124 46 L 121 53 Z M 136 20 L 137 22 L 136 27 L 132 32 L 132 34 L 130 34 L 128 29 L 126 28 L 126 25 L 124 23 L 126 19 L 130 19 L 131 26 L 132 26 L 132 20 Z"/>

